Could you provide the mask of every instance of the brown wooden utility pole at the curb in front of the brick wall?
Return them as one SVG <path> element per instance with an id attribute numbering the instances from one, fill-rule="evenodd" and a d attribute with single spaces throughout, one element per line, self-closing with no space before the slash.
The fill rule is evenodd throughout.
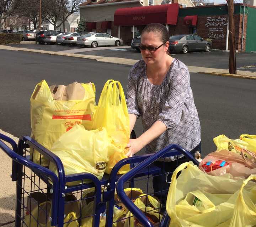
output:
<path id="1" fill-rule="evenodd" d="M 234 0 L 228 0 L 229 17 L 229 74 L 236 74 Z"/>

